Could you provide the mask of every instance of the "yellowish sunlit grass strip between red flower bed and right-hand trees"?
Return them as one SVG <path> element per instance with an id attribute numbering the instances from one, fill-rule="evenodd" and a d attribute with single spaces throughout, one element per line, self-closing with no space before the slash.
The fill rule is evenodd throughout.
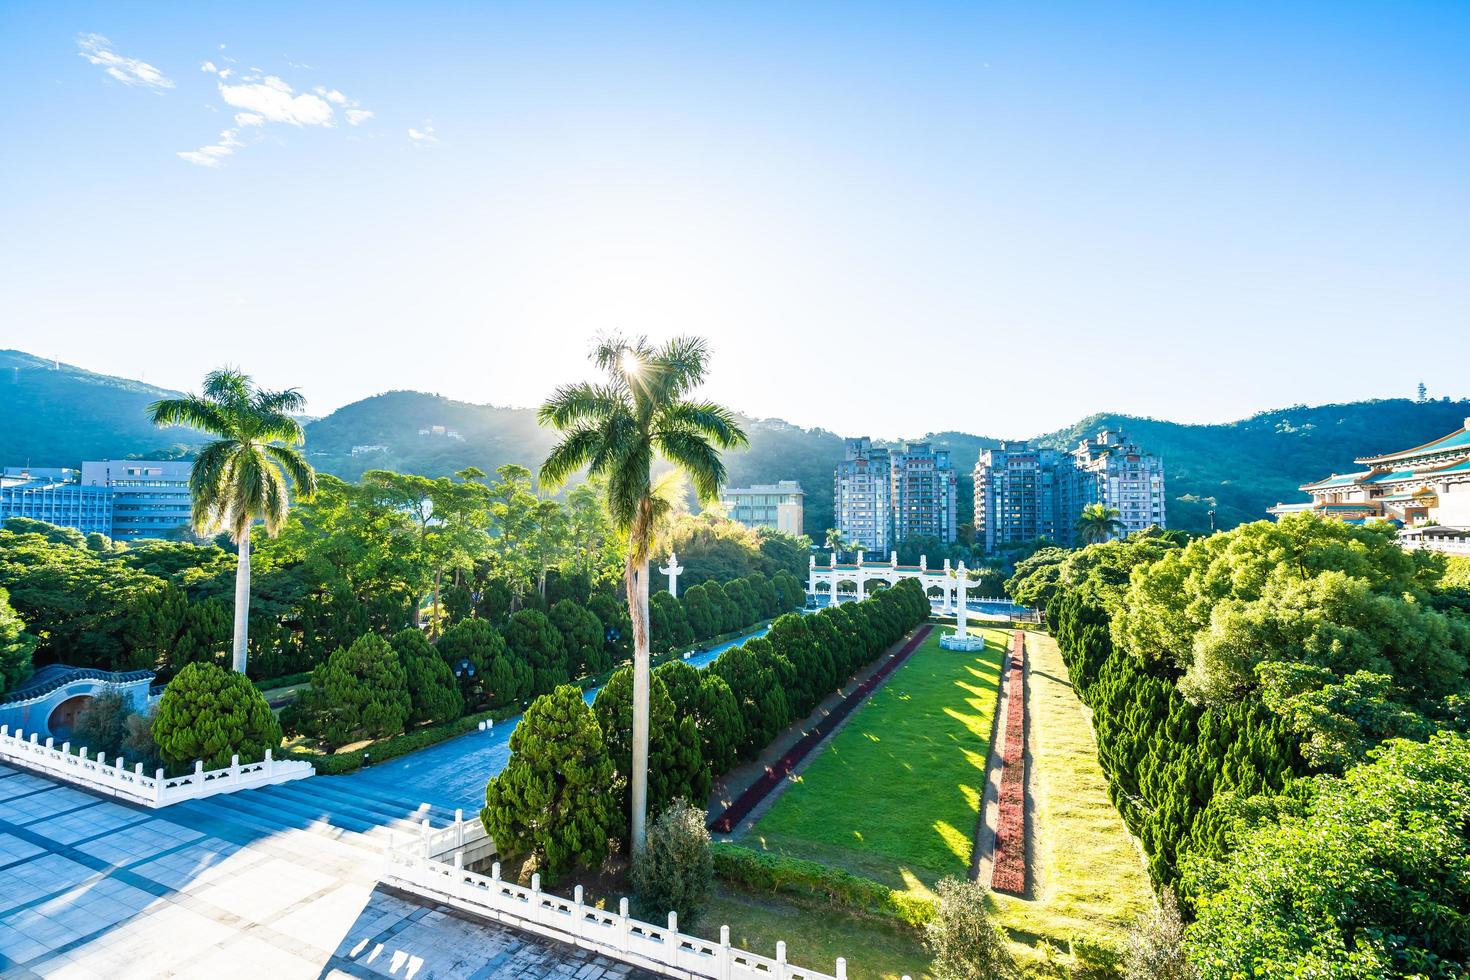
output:
<path id="1" fill-rule="evenodd" d="M 1013 939 L 1066 949 L 1075 934 L 1122 939 L 1154 898 L 1138 848 L 1107 795 L 1086 708 L 1067 682 L 1055 641 L 1026 638 L 1030 661 L 1032 898 L 997 895 Z"/>

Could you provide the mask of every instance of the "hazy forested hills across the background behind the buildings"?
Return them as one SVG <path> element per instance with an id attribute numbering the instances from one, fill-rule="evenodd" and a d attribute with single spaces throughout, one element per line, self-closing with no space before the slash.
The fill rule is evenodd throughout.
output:
<path id="1" fill-rule="evenodd" d="M 310 392 L 310 379 L 301 386 Z M 154 398 L 175 392 L 141 382 L 56 366 L 18 351 L 0 351 L 0 464 L 75 466 L 85 458 L 154 455 L 197 442 L 179 429 L 157 430 L 144 417 Z M 1458 429 L 1470 401 L 1414 403 L 1407 398 L 1263 411 L 1222 425 L 1180 425 L 1122 414 L 1094 414 L 1042 445 L 1072 448 L 1100 428 L 1123 429 L 1164 457 L 1169 522 L 1186 530 L 1260 520 L 1277 501 L 1302 500 L 1301 483 L 1344 473 L 1360 455 L 1420 445 Z M 745 420 L 751 445 L 726 457 L 734 485 L 795 479 L 807 491 L 807 530 L 820 538 L 832 523 L 832 464 L 842 438 L 778 419 Z M 428 429 L 426 435 L 420 430 Z M 457 433 L 459 438 L 448 435 Z M 860 433 L 847 433 L 860 435 Z M 980 450 L 998 439 L 966 432 L 917 436 L 947 448 L 960 473 L 960 520 L 972 514 L 970 472 Z M 369 469 L 440 476 L 466 466 L 492 472 L 504 463 L 535 467 L 553 433 L 529 408 L 454 401 L 419 391 L 363 398 L 307 425 L 307 453 L 319 469 L 353 479 Z M 354 447 L 385 447 L 362 450 Z"/>

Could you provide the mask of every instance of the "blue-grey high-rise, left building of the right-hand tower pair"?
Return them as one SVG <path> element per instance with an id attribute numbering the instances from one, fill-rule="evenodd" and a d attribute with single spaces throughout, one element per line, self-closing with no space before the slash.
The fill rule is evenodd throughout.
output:
<path id="1" fill-rule="evenodd" d="M 1045 538 L 1072 545 L 1066 520 L 1070 460 L 1026 441 L 982 450 L 975 463 L 975 542 L 986 552 Z"/>

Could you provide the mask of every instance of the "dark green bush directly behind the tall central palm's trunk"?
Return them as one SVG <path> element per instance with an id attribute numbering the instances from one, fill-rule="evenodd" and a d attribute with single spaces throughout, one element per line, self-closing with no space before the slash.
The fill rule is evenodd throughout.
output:
<path id="1" fill-rule="evenodd" d="M 634 758 L 632 667 L 613 671 L 592 701 L 592 714 L 603 729 L 607 757 L 617 773 L 623 802 L 620 813 L 626 818 L 632 807 L 628 783 Z M 654 673 L 648 683 L 648 813 L 662 811 L 676 798 L 706 799 L 709 795 L 710 768 L 700 751 L 695 718 L 675 711 L 663 679 Z"/>

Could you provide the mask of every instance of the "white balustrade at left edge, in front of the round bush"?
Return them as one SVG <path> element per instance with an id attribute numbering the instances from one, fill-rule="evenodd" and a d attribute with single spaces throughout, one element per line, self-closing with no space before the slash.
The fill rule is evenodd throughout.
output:
<path id="1" fill-rule="evenodd" d="M 4 724 L 0 724 L 0 761 L 153 808 L 185 799 L 232 793 L 237 789 L 273 786 L 316 774 L 310 763 L 276 760 L 270 749 L 266 749 L 266 757 L 259 763 L 241 764 L 240 757 L 235 755 L 226 768 L 206 771 L 204 763 L 194 763 L 194 771 L 184 776 L 169 777 L 163 774 L 162 768 L 150 776 L 143 771 L 141 763 L 132 768 L 123 768 L 121 757 L 109 764 L 103 752 L 98 752 L 96 758 L 88 758 L 85 746 L 74 754 L 71 742 L 63 742 L 62 748 L 57 749 L 53 748 L 51 739 L 40 743 L 34 732 L 26 739 L 25 732 L 12 735 L 10 726 Z"/>

